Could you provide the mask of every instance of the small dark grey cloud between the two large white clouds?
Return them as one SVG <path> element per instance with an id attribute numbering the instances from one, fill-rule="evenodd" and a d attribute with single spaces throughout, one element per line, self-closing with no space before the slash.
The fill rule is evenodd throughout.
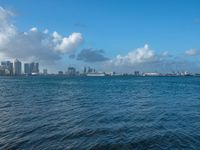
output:
<path id="1" fill-rule="evenodd" d="M 103 62 L 109 60 L 109 58 L 104 56 L 104 50 L 102 49 L 83 49 L 78 54 L 77 60 L 82 60 L 85 62 Z"/>

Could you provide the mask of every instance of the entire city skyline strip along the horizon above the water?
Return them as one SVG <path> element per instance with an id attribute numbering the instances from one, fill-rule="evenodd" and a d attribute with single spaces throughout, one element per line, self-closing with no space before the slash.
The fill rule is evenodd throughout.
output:
<path id="1" fill-rule="evenodd" d="M 59 76 L 200 76 L 200 74 L 192 74 L 187 71 L 172 72 L 161 74 L 158 72 L 139 72 L 116 74 L 115 72 L 99 72 L 91 67 L 84 67 L 82 72 L 76 70 L 75 67 L 68 67 L 66 72 L 58 71 L 57 74 L 48 74 L 47 69 L 43 73 L 39 72 L 39 63 L 24 63 L 22 72 L 22 62 L 18 59 L 11 61 L 2 61 L 0 64 L 0 75 L 18 76 L 18 75 L 59 75 Z"/>

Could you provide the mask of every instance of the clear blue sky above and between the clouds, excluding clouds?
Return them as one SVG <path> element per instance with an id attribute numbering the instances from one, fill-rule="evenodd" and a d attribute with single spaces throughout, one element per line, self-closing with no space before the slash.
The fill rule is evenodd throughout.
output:
<path id="1" fill-rule="evenodd" d="M 20 31 L 81 33 L 84 42 L 77 51 L 102 49 L 112 59 L 148 44 L 158 55 L 167 51 L 198 60 L 184 55 L 200 49 L 198 0 L 1 0 L 0 6 L 15 13 L 12 23 Z"/>

